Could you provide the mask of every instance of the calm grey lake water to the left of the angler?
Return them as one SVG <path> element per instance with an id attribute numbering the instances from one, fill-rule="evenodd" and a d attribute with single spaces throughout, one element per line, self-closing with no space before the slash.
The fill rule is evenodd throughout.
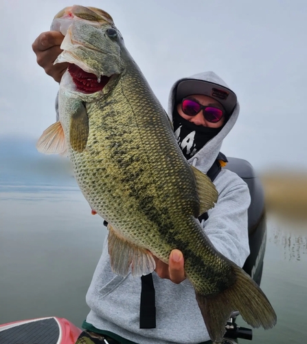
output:
<path id="1" fill-rule="evenodd" d="M 77 187 L 13 190 L 0 193 L 0 323 L 56 315 L 80 326 L 103 220 Z"/>

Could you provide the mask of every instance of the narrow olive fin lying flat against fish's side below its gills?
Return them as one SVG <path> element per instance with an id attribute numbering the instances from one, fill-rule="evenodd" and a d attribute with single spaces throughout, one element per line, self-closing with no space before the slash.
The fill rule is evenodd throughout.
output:
<path id="1" fill-rule="evenodd" d="M 69 131 L 69 141 L 74 151 L 82 152 L 87 146 L 89 137 L 89 117 L 87 109 L 80 103 L 79 108 L 72 114 Z"/>

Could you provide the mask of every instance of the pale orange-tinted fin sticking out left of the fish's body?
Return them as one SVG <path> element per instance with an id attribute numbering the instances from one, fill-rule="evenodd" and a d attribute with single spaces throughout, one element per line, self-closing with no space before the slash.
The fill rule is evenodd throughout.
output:
<path id="1" fill-rule="evenodd" d="M 38 139 L 36 148 L 44 154 L 64 154 L 66 151 L 65 135 L 60 122 L 50 125 Z"/>

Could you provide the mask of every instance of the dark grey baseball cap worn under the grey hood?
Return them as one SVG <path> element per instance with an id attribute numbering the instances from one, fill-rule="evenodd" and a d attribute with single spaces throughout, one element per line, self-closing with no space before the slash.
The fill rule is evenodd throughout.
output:
<path id="1" fill-rule="evenodd" d="M 232 114 L 237 103 L 237 96 L 231 89 L 206 80 L 197 79 L 183 80 L 178 84 L 176 102 L 179 103 L 181 99 L 192 94 L 203 94 L 214 98 L 223 105 L 228 115 Z"/>

